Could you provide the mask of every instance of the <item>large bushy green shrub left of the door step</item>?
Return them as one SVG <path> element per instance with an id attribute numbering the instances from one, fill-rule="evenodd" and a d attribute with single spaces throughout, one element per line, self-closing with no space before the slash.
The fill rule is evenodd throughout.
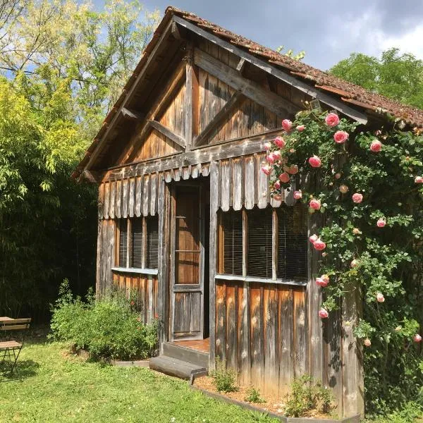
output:
<path id="1" fill-rule="evenodd" d="M 52 337 L 88 350 L 92 357 L 133 360 L 145 358 L 157 348 L 158 324 L 143 324 L 133 302 L 121 293 L 95 300 L 74 298 L 64 281 L 53 307 Z"/>

